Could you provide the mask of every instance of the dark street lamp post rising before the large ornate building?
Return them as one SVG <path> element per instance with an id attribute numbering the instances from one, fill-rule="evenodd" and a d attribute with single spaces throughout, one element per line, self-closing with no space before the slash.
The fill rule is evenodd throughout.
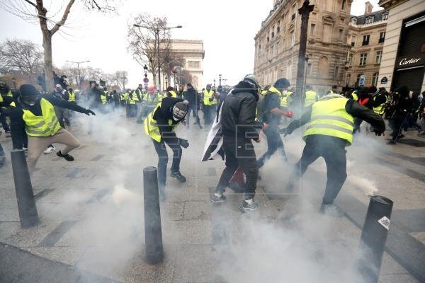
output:
<path id="1" fill-rule="evenodd" d="M 300 33 L 300 50 L 298 51 L 298 66 L 297 66 L 297 97 L 302 103 L 302 96 L 305 95 L 304 91 L 304 76 L 305 76 L 305 53 L 307 49 L 307 28 L 308 18 L 310 17 L 311 11 L 313 11 L 314 5 L 310 5 L 308 0 L 302 3 L 301 8 L 298 9 L 298 13 L 301 15 L 301 33 Z"/>

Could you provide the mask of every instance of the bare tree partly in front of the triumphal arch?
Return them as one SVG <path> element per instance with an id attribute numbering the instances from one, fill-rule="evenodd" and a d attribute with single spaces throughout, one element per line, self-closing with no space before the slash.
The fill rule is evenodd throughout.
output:
<path id="1" fill-rule="evenodd" d="M 158 18 L 143 13 L 136 16 L 128 26 L 128 51 L 140 66 L 147 65 L 155 86 L 157 86 L 158 66 L 163 68 L 169 60 L 171 33 L 166 29 L 166 23 L 165 17 Z M 140 25 L 142 28 L 134 25 Z"/>

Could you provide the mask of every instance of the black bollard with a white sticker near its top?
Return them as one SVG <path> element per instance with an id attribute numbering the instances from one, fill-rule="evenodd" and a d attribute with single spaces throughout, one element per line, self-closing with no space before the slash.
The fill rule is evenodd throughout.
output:
<path id="1" fill-rule="evenodd" d="M 379 195 L 370 197 L 360 240 L 361 248 L 366 250 L 365 259 L 360 264 L 361 274 L 366 282 L 378 282 L 391 212 L 392 200 Z"/>

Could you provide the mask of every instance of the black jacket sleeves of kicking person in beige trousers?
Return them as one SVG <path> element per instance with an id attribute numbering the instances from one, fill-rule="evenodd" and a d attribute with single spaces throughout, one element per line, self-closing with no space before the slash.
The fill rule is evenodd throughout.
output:
<path id="1" fill-rule="evenodd" d="M 69 110 L 77 111 L 80 113 L 86 112 L 85 108 L 77 105 L 76 103 L 68 102 L 67 100 L 63 100 L 62 98 L 56 98 L 55 96 L 50 96 L 48 94 L 40 95 L 37 102 L 30 106 L 26 103 L 23 103 L 20 98 L 16 100 L 16 107 L 10 108 L 10 116 L 11 116 L 11 134 L 12 134 L 12 142 L 13 149 L 21 149 L 23 144 L 23 137 L 25 135 L 25 122 L 23 121 L 23 109 L 30 110 L 36 116 L 41 116 L 41 105 L 40 99 L 45 98 L 52 105 L 59 106 L 62 108 L 67 108 Z"/>

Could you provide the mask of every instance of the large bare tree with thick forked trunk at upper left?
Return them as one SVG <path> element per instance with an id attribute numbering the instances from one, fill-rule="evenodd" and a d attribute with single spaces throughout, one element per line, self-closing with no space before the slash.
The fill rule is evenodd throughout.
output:
<path id="1" fill-rule="evenodd" d="M 114 11 L 114 0 L 79 0 L 88 10 Z M 47 7 L 43 0 L 4 0 L 0 8 L 23 18 L 25 21 L 33 21 L 38 18 L 42 33 L 42 47 L 44 50 L 45 81 L 48 91 L 53 89 L 53 63 L 52 63 L 52 36 L 65 24 L 75 0 L 67 0 L 59 21 L 53 21 L 47 16 Z M 47 5 L 49 6 L 49 5 Z M 59 12 L 57 12 L 59 13 Z M 53 13 L 55 14 L 55 13 Z"/>

